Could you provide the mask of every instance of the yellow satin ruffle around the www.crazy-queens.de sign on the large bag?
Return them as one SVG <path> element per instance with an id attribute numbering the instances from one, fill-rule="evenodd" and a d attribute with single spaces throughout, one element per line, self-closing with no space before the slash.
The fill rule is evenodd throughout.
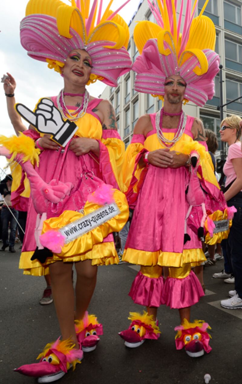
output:
<path id="1" fill-rule="evenodd" d="M 127 222 L 129 217 L 129 207 L 125 195 L 117 189 L 114 189 L 114 200 L 118 205 L 120 214 L 114 216 L 106 223 L 100 225 L 100 227 L 92 229 L 90 232 L 85 233 L 81 237 L 67 243 L 62 247 L 62 252 L 58 254 L 60 258 L 71 257 L 86 253 L 90 251 L 94 244 L 103 242 L 103 239 L 111 232 L 119 232 L 124 224 Z M 99 209 L 100 205 L 95 203 L 86 202 L 84 207 L 84 214 L 88 215 L 91 212 Z M 82 218 L 84 215 L 76 211 L 64 211 L 59 217 L 51 217 L 44 221 L 43 231 L 45 233 L 49 230 L 57 230 L 69 223 L 74 222 Z"/>

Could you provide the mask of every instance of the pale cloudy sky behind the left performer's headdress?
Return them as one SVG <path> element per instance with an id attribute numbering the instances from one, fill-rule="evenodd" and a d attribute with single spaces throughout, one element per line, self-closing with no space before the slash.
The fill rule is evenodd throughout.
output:
<path id="1" fill-rule="evenodd" d="M 62 0 L 70 4 L 68 0 Z M 123 0 L 124 1 L 124 0 Z M 140 0 L 131 0 L 119 14 L 129 23 L 132 15 L 136 12 Z M 27 51 L 20 44 L 19 26 L 20 21 L 25 17 L 26 0 L 1 0 L 0 12 L 0 78 L 6 72 L 16 80 L 15 99 L 16 102 L 25 104 L 33 109 L 36 102 L 44 96 L 55 96 L 63 88 L 62 77 L 47 68 L 47 63 L 37 61 L 27 55 Z M 90 1 L 91 5 L 93 0 Z M 109 0 L 103 0 L 103 9 L 108 5 Z M 111 9 L 115 11 L 121 5 L 120 0 L 114 0 Z M 88 86 L 88 92 L 98 97 L 105 84 L 97 81 Z M 11 136 L 14 129 L 8 118 L 6 97 L 3 84 L 0 83 L 0 134 Z M 0 168 L 6 164 L 5 158 L 0 157 Z M 0 179 L 3 172 L 0 170 Z"/>

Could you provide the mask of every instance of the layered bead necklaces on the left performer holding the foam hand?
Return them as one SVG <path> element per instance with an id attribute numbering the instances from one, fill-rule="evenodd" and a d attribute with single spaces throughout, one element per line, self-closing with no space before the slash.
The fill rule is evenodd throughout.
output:
<path id="1" fill-rule="evenodd" d="M 69 94 L 69 96 L 71 96 L 72 94 Z M 78 95 L 78 94 L 73 94 L 74 96 L 81 96 L 81 95 Z M 89 102 L 89 98 L 90 98 L 90 95 L 87 91 L 87 89 L 85 89 L 85 93 L 84 93 L 84 96 L 83 96 L 83 99 L 82 99 L 82 105 L 77 108 L 74 112 L 69 112 L 66 105 L 65 105 L 65 102 L 64 102 L 64 92 L 63 92 L 63 89 L 61 90 L 61 92 L 59 93 L 59 95 L 57 96 L 57 105 L 58 105 L 58 109 L 59 111 L 61 112 L 61 116 L 63 119 L 68 119 L 70 121 L 76 121 L 78 120 L 79 118 L 81 118 L 82 116 L 85 115 L 85 113 L 87 112 L 87 106 L 88 106 L 88 102 Z M 76 116 L 74 116 L 76 115 Z"/>

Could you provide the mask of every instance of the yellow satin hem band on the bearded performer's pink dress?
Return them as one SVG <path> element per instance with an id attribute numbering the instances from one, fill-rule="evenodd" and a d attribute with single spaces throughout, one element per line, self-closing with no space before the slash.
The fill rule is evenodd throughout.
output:
<path id="1" fill-rule="evenodd" d="M 184 264 L 199 265 L 206 260 L 201 248 L 184 249 L 183 253 L 175 252 L 146 252 L 128 248 L 124 250 L 123 261 L 137 265 L 160 265 L 179 268 Z"/>

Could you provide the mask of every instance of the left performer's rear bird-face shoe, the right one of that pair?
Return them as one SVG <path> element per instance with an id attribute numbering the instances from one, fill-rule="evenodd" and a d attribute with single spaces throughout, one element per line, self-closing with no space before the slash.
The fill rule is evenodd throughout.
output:
<path id="1" fill-rule="evenodd" d="M 96 316 L 85 312 L 82 320 L 75 320 L 75 330 L 82 351 L 94 351 L 100 340 L 98 336 L 103 334 L 103 326 L 98 323 Z"/>

